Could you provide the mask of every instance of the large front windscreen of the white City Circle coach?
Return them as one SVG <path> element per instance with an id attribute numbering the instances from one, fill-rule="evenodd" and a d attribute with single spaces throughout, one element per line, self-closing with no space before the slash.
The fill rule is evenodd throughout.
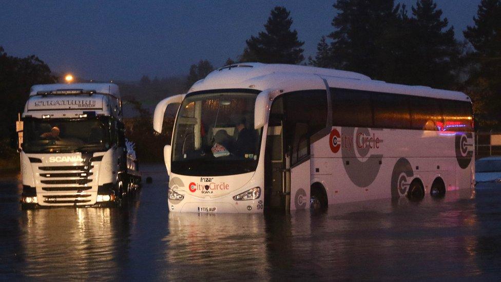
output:
<path id="1" fill-rule="evenodd" d="M 261 129 L 254 129 L 254 93 L 188 96 L 181 104 L 172 143 L 172 172 L 217 176 L 252 172 Z"/>

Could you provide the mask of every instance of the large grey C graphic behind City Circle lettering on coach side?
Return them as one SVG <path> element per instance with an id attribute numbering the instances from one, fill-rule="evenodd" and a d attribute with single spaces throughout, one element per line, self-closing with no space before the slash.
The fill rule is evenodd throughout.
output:
<path id="1" fill-rule="evenodd" d="M 373 135 L 373 137 L 374 136 L 375 135 Z M 382 161 L 383 155 L 369 154 L 371 150 L 374 151 L 374 149 L 377 149 L 370 143 L 375 142 L 371 141 L 373 137 L 371 137 L 369 128 L 341 128 L 341 156 L 344 170 L 351 181 L 359 187 L 371 185 L 376 179 L 381 167 L 380 162 Z M 382 140 L 378 142 L 382 142 Z M 365 160 L 360 160 L 357 153 L 360 158 L 364 158 Z"/>

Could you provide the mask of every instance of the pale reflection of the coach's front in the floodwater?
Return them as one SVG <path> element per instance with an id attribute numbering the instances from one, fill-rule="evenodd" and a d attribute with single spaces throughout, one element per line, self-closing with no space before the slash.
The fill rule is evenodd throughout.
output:
<path id="1" fill-rule="evenodd" d="M 262 215 L 170 213 L 168 227 L 168 280 L 267 279 Z"/>

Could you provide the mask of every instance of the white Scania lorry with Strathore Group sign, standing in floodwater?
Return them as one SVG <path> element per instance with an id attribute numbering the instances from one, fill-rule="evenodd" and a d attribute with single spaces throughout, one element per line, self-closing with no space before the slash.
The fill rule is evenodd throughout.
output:
<path id="1" fill-rule="evenodd" d="M 139 190 L 115 84 L 34 85 L 16 130 L 24 209 L 115 206 Z"/>

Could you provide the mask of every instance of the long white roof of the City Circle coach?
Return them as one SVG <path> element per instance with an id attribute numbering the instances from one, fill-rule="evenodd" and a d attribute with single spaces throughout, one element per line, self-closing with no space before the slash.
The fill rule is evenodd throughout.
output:
<path id="1" fill-rule="evenodd" d="M 462 92 L 376 81 L 351 71 L 262 63 L 240 63 L 214 70 L 207 77 L 196 82 L 188 93 L 209 89 L 235 88 L 259 90 L 276 88 L 283 89 L 284 92 L 325 88 L 325 84 L 320 78 L 325 79 L 329 87 L 334 88 L 470 101 L 470 98 Z"/>

